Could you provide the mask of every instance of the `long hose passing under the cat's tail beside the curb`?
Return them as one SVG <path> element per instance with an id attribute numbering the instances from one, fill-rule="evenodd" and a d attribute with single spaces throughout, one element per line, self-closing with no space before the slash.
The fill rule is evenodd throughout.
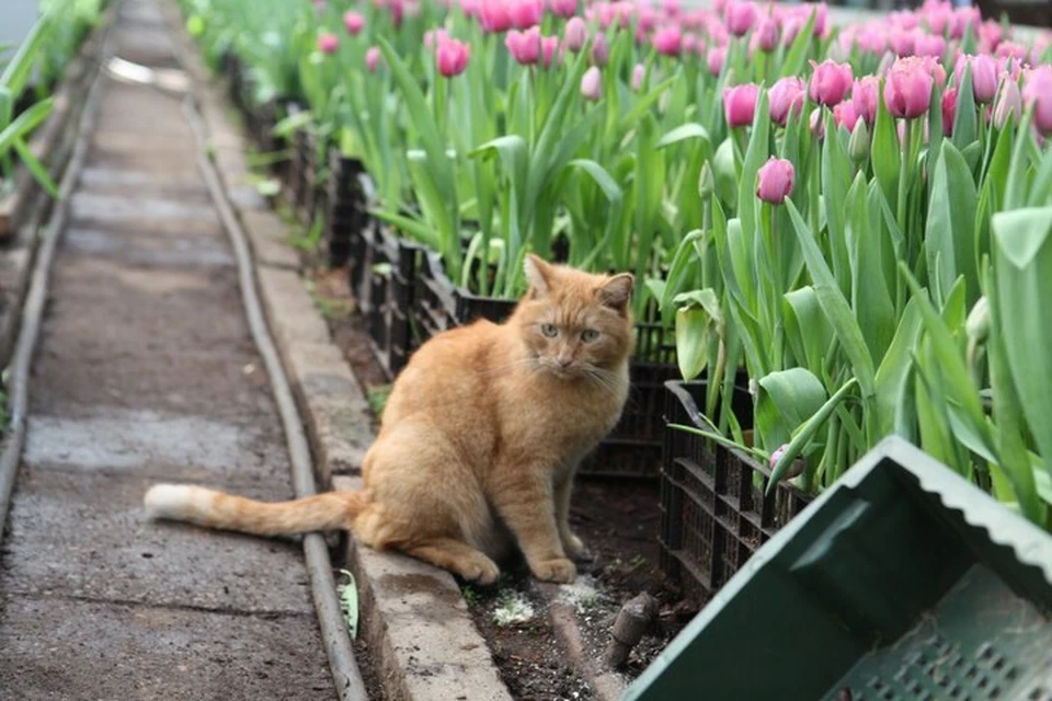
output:
<path id="1" fill-rule="evenodd" d="M 255 341 L 256 348 L 263 357 L 266 374 L 271 379 L 274 399 L 277 401 L 282 424 L 285 428 L 285 439 L 288 445 L 288 455 L 291 460 L 293 486 L 296 496 L 316 494 L 313 467 L 310 458 L 310 447 L 304 433 L 304 423 L 296 406 L 288 378 L 282 366 L 277 348 L 266 325 L 260 298 L 256 294 L 255 268 L 249 253 L 244 230 L 227 199 L 227 192 L 216 171 L 215 164 L 206 154 L 208 143 L 205 125 L 191 96 L 183 103 L 186 118 L 197 140 L 197 164 L 208 185 L 208 192 L 219 211 L 224 229 L 238 260 L 238 272 L 241 283 L 241 297 L 244 301 L 244 311 L 249 319 L 249 327 Z M 365 682 L 354 659 L 351 639 L 347 636 L 346 623 L 336 600 L 336 587 L 332 577 L 332 563 L 329 560 L 329 549 L 321 533 L 307 533 L 304 537 L 304 554 L 307 560 L 307 573 L 310 576 L 310 588 L 318 612 L 318 622 L 321 635 L 329 655 L 329 667 L 332 670 L 336 692 L 345 701 L 367 699 Z"/>

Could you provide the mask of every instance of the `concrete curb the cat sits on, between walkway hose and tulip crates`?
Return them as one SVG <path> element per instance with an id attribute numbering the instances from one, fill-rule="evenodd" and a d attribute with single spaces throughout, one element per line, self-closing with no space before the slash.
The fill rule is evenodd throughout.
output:
<path id="1" fill-rule="evenodd" d="M 254 192 L 245 140 L 227 118 L 221 89 L 181 38 L 214 160 L 253 249 L 256 287 L 307 424 L 316 478 L 324 486 L 357 489 L 361 480 L 345 475 L 359 472 L 373 441 L 368 403 L 299 277 L 296 253 L 283 244 L 284 225 L 254 198 L 238 195 Z M 348 543 L 359 631 L 376 659 L 386 699 L 511 700 L 451 575 L 410 558 L 358 548 L 353 539 Z"/>

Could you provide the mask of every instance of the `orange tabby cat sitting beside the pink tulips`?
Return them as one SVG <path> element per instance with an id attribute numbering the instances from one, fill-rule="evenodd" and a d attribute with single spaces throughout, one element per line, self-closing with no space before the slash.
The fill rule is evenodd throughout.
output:
<path id="1" fill-rule="evenodd" d="M 483 584 L 517 543 L 536 577 L 573 582 L 584 547 L 567 521 L 570 489 L 628 397 L 632 276 L 533 255 L 526 276 L 504 324 L 447 331 L 412 356 L 365 457 L 364 492 L 265 504 L 159 484 L 147 509 L 261 536 L 348 529 Z"/>

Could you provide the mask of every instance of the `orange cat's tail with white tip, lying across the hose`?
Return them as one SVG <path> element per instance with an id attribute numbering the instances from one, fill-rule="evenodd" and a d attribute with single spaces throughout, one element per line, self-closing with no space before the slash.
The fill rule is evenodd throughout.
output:
<path id="1" fill-rule="evenodd" d="M 254 536 L 350 529 L 367 505 L 362 492 L 325 492 L 291 502 L 266 503 L 188 484 L 155 485 L 144 502 L 152 518 Z"/>

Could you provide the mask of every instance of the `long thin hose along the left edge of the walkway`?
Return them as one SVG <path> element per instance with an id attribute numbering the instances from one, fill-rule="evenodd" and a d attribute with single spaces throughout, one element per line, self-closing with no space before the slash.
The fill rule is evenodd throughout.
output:
<path id="1" fill-rule="evenodd" d="M 103 38 L 101 55 L 106 55 L 106 47 L 112 34 L 106 28 Z M 77 122 L 73 152 L 66 164 L 66 172 L 59 182 L 59 199 L 52 209 L 52 217 L 46 228 L 37 233 L 41 237 L 39 250 L 33 264 L 33 277 L 30 279 L 30 291 L 25 296 L 22 307 L 22 323 L 19 331 L 19 343 L 14 348 L 11 364 L 8 366 L 8 409 L 10 422 L 3 437 L 3 452 L 0 453 L 0 542 L 3 542 L 3 528 L 8 520 L 8 509 L 11 507 L 11 493 L 14 491 L 14 481 L 22 461 L 22 448 L 25 445 L 26 412 L 28 409 L 30 370 L 33 365 L 33 355 L 36 352 L 36 342 L 41 335 L 41 321 L 44 317 L 44 307 L 47 303 L 48 278 L 52 273 L 52 262 L 58 248 L 58 239 L 66 228 L 69 216 L 69 197 L 80 177 L 80 170 L 88 152 L 90 129 L 94 126 L 95 110 L 99 106 L 101 94 L 101 72 L 96 70 L 92 77 L 91 88 L 81 107 L 80 118 Z"/>

